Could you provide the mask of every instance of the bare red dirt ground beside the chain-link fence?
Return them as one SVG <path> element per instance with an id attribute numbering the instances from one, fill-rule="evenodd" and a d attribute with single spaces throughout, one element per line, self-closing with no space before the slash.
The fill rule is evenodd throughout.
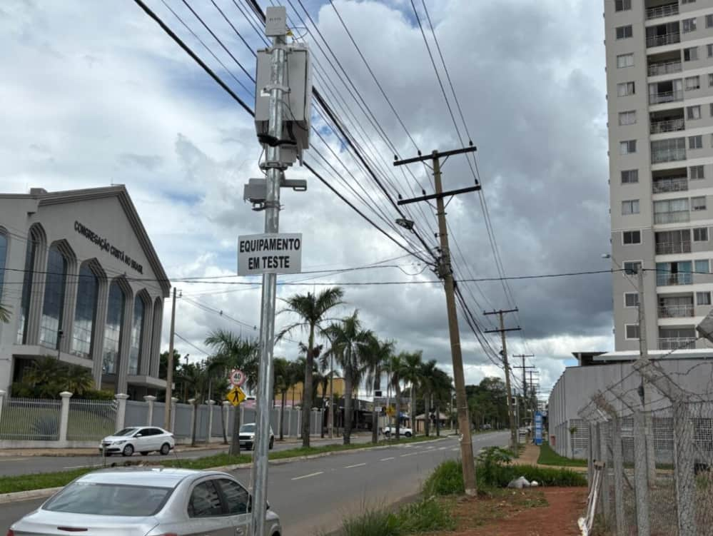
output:
<path id="1" fill-rule="evenodd" d="M 515 490 L 513 490 L 515 494 Z M 545 487 L 516 492 L 512 500 L 498 497 L 460 502 L 455 508 L 458 536 L 578 536 L 577 518 L 587 506 L 586 487 Z M 547 506 L 537 506 L 542 494 Z M 532 505 L 528 505 L 531 498 Z M 497 517 L 503 516 L 500 519 Z M 490 519 L 487 519 L 490 517 Z M 478 526 L 480 525 L 480 526 Z"/>

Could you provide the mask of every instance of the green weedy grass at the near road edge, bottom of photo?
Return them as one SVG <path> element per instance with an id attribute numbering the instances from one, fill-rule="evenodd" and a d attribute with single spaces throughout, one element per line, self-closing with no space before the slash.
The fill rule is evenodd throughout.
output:
<path id="1" fill-rule="evenodd" d="M 455 529 L 450 505 L 433 497 L 400 507 L 396 512 L 366 510 L 343 521 L 341 536 L 405 536 Z"/>

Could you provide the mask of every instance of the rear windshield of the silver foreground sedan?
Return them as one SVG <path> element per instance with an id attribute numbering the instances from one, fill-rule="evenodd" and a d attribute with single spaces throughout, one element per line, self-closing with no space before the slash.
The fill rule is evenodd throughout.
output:
<path id="1" fill-rule="evenodd" d="M 74 482 L 42 509 L 70 514 L 146 517 L 161 510 L 171 492 L 171 487 Z"/>

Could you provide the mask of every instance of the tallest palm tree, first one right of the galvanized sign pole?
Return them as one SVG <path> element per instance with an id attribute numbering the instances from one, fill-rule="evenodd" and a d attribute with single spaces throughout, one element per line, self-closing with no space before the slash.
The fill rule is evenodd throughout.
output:
<path id="1" fill-rule="evenodd" d="M 315 335 L 324 333 L 322 323 L 329 320 L 327 313 L 329 313 L 331 309 L 343 303 L 343 295 L 344 290 L 339 287 L 325 288 L 319 294 L 310 292 L 307 294 L 295 294 L 285 300 L 287 306 L 280 311 L 280 313 L 293 313 L 299 317 L 299 320 L 280 331 L 277 337 L 278 340 L 295 328 L 307 330 L 309 333 L 305 360 L 305 381 L 303 383 L 303 395 L 305 398 L 302 404 L 303 447 L 310 446 L 310 411 L 312 410 L 312 400 L 308 400 L 308 396 L 312 393 Z"/>

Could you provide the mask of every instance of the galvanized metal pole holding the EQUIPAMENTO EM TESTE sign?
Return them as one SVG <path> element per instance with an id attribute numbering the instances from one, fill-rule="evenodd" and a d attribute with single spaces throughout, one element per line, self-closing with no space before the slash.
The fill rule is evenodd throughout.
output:
<path id="1" fill-rule="evenodd" d="M 283 84 L 285 81 L 285 36 L 273 37 L 270 59 L 270 117 L 268 133 L 281 139 L 283 131 Z M 257 91 L 262 91 L 258 88 Z M 280 221 L 280 176 L 285 164 L 280 161 L 280 146 L 266 148 L 265 232 L 277 233 Z M 273 383 L 273 345 L 275 341 L 275 299 L 277 274 L 263 275 L 260 315 L 260 365 L 256 415 L 256 444 L 253 452 L 253 536 L 265 536 L 268 498 L 268 445 L 270 438 L 270 398 Z"/>

